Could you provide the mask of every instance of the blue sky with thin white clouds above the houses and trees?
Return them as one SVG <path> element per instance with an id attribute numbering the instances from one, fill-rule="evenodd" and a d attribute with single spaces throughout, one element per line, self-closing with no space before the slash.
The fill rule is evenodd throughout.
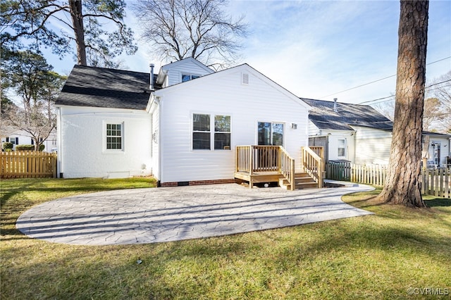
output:
<path id="1" fill-rule="evenodd" d="M 130 5 L 132 1 L 128 1 Z M 245 15 L 250 35 L 240 63 L 248 63 L 300 97 L 359 104 L 395 93 L 396 78 L 345 89 L 395 75 L 400 3 L 389 1 L 230 1 L 231 15 Z M 128 13 L 138 36 L 140 26 Z M 141 25 L 142 26 L 142 25 Z M 451 70 L 451 1 L 429 4 L 426 77 L 433 80 Z M 48 57 L 56 71 L 68 74 L 75 63 Z M 159 59 L 139 44 L 123 65 L 149 72 Z"/>

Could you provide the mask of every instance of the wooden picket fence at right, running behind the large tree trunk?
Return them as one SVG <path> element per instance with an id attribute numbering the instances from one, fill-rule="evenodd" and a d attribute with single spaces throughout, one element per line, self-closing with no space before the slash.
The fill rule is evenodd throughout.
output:
<path id="1" fill-rule="evenodd" d="M 383 186 L 388 165 L 328 162 L 326 179 Z M 451 167 L 421 170 L 421 193 L 451 198 Z"/>

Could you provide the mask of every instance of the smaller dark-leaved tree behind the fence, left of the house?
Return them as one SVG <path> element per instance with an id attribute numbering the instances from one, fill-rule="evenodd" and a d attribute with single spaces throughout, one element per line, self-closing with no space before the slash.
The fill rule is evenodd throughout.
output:
<path id="1" fill-rule="evenodd" d="M 27 132 L 37 149 L 56 127 L 54 101 L 66 80 L 52 69 L 44 57 L 30 50 L 5 51 L 1 65 L 3 92 L 20 96 L 20 103 L 2 112 L 1 127 Z"/>

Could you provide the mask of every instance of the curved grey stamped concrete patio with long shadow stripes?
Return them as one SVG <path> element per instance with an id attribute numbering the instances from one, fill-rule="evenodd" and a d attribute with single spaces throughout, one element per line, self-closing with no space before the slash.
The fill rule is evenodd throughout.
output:
<path id="1" fill-rule="evenodd" d="M 349 182 L 296 191 L 236 184 L 125 189 L 40 204 L 16 226 L 28 237 L 63 244 L 171 242 L 369 215 L 340 199 L 371 189 Z"/>

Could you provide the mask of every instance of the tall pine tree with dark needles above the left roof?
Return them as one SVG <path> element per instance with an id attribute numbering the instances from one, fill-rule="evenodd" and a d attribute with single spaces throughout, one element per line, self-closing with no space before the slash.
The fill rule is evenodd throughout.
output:
<path id="1" fill-rule="evenodd" d="M 132 31 L 123 18 L 123 0 L 6 0 L 1 1 L 2 47 L 38 51 L 50 47 L 63 56 L 75 42 L 78 64 L 114 67 L 112 58 L 123 51 L 134 54 Z M 103 21 L 116 25 L 108 31 Z M 56 27 L 66 30 L 56 32 Z"/>

